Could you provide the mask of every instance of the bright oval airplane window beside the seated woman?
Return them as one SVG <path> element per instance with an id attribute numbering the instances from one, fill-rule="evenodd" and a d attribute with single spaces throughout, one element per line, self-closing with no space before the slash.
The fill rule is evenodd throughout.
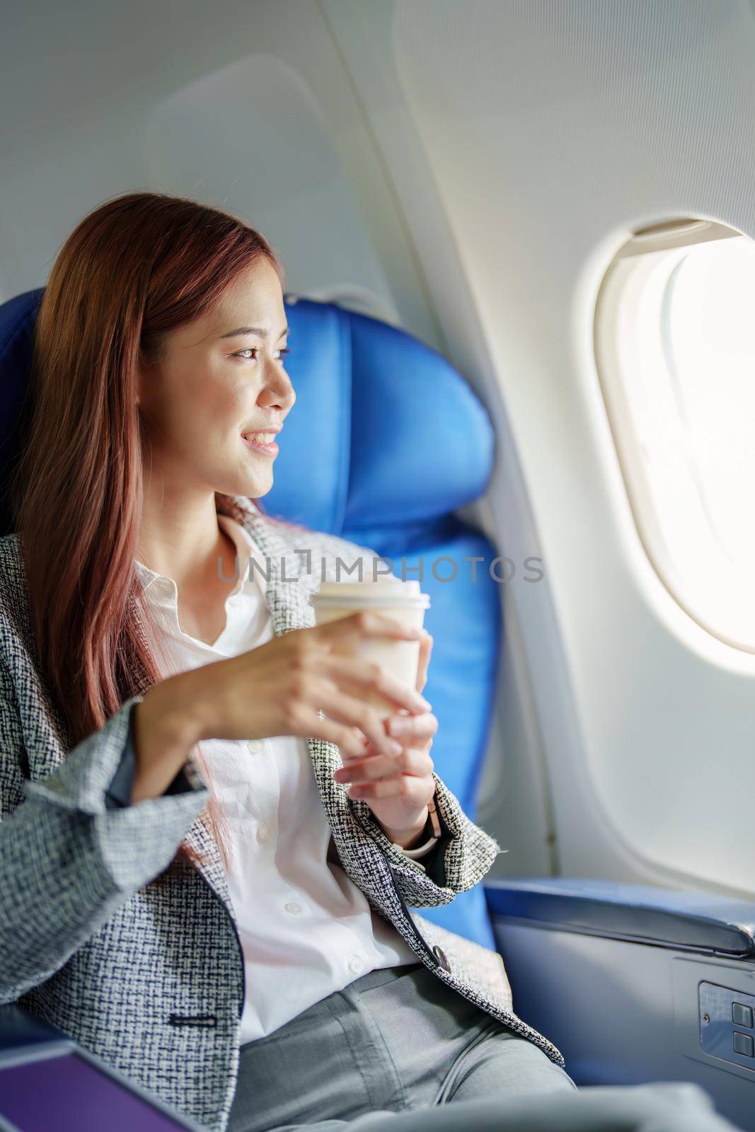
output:
<path id="1" fill-rule="evenodd" d="M 635 522 L 676 600 L 755 652 L 755 243 L 683 220 L 603 280 L 595 355 Z"/>

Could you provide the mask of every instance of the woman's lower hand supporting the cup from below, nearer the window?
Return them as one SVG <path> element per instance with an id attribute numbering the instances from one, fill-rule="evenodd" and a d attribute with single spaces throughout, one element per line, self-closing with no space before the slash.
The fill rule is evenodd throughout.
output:
<path id="1" fill-rule="evenodd" d="M 424 632 L 420 644 L 417 691 L 427 684 L 432 637 Z M 427 711 L 409 714 L 398 710 L 384 720 L 384 728 L 400 745 L 401 754 L 386 755 L 371 744 L 359 758 L 344 757 L 344 766 L 333 775 L 336 782 L 351 782 L 350 798 L 363 798 L 391 840 L 414 840 L 424 827 L 428 803 L 435 794 L 434 762 L 430 747 L 438 720 Z"/>

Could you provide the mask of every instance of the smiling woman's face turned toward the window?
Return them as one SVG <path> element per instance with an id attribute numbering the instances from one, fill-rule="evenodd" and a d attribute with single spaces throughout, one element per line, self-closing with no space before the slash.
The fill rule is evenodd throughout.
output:
<path id="1" fill-rule="evenodd" d="M 140 370 L 145 475 L 169 490 L 269 491 L 276 437 L 255 434 L 276 434 L 295 401 L 285 346 L 281 283 L 263 257 L 209 314 L 171 331 L 161 360 Z"/>

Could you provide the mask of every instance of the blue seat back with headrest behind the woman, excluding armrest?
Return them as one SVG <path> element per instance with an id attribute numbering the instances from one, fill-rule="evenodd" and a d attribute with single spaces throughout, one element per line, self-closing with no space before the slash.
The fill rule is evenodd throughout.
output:
<path id="1" fill-rule="evenodd" d="M 0 307 L 0 475 L 23 439 L 34 319 L 43 291 Z M 297 389 L 263 503 L 271 515 L 367 546 L 430 594 L 434 653 L 424 695 L 439 727 L 435 769 L 472 821 L 500 646 L 490 541 L 455 511 L 486 488 L 494 430 L 436 351 L 334 303 L 285 297 L 286 369 Z M 20 415 L 19 415 L 20 414 Z M 20 438 L 20 439 L 19 439 Z M 1 533 L 10 530 L 7 508 Z M 482 885 L 422 915 L 486 946 Z"/>

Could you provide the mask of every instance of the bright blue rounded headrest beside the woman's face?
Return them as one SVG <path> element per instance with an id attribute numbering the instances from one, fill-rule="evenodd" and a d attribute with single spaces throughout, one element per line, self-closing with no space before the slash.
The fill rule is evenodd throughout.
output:
<path id="1" fill-rule="evenodd" d="M 268 511 L 342 534 L 428 523 L 484 491 L 492 428 L 445 358 L 334 303 L 286 297 L 286 317 L 298 402 Z"/>

